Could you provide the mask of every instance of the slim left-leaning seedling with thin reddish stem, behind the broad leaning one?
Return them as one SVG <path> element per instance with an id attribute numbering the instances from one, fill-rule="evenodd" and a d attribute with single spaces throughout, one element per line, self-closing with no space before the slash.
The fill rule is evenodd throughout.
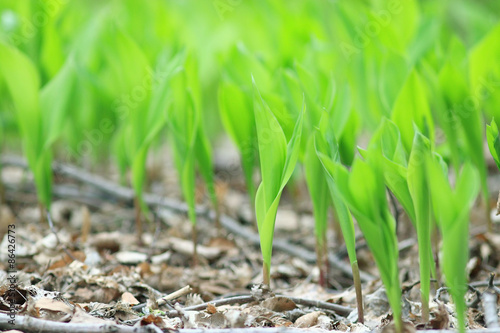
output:
<path id="1" fill-rule="evenodd" d="M 314 149 L 316 156 L 323 167 L 323 170 L 318 170 L 317 172 L 322 175 L 321 180 L 323 182 L 326 180 L 326 184 L 328 185 L 328 190 L 330 192 L 330 199 L 335 207 L 335 212 L 337 213 L 338 221 L 347 248 L 347 254 L 349 256 L 349 261 L 351 262 L 354 288 L 356 290 L 358 321 L 363 323 L 363 294 L 361 291 L 361 279 L 359 277 L 358 258 L 356 256 L 356 235 L 354 231 L 354 223 L 351 212 L 347 208 L 347 205 L 335 183 L 336 170 L 341 167 L 339 145 L 331 131 L 331 127 L 328 126 L 331 122 L 326 120 L 328 120 L 328 117 L 326 116 L 326 113 L 324 113 L 322 121 L 320 122 L 320 128 L 314 135 Z M 312 156 L 309 158 L 313 159 Z"/>

